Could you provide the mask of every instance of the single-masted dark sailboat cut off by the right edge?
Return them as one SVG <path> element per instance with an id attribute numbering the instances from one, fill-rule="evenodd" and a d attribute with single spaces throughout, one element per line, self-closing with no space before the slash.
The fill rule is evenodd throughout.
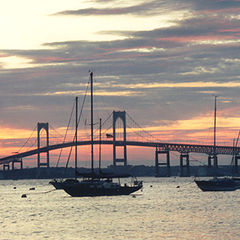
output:
<path id="1" fill-rule="evenodd" d="M 197 180 L 194 182 L 204 192 L 206 191 L 235 191 L 240 189 L 240 181 L 233 177 L 217 177 L 217 153 L 216 153 L 216 112 L 217 112 L 217 96 L 215 96 L 214 107 L 214 144 L 213 144 L 213 157 L 214 157 L 214 177 L 208 180 Z"/>

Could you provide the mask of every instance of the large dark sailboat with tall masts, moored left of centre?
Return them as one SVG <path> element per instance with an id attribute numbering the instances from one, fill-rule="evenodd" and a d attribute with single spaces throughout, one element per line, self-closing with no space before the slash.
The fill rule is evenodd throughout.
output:
<path id="1" fill-rule="evenodd" d="M 76 101 L 76 129 L 75 129 L 75 179 L 67 179 L 65 181 L 51 181 L 50 183 L 55 188 L 63 189 L 72 197 L 89 197 L 89 196 L 115 196 L 115 195 L 129 195 L 142 188 L 142 181 L 136 178 L 132 179 L 130 184 L 122 185 L 121 178 L 130 177 L 129 174 L 116 175 L 112 173 L 102 173 L 94 171 L 94 148 L 93 148 L 93 72 L 90 72 L 91 83 L 91 172 L 79 173 L 77 170 L 77 101 Z M 78 177 L 82 177 L 78 180 Z M 118 179 L 114 182 L 113 179 Z"/>

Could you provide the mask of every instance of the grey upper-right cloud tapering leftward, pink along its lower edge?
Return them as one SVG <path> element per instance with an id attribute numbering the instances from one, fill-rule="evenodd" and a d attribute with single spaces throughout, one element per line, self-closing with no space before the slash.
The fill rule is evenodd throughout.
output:
<path id="1" fill-rule="evenodd" d="M 113 31 L 109 34 L 123 35 L 139 39 L 151 39 L 158 42 L 191 42 L 192 40 L 225 40 L 239 38 L 239 19 L 222 19 L 222 17 L 198 16 L 179 21 L 175 26 L 154 29 L 152 31 Z M 172 39 L 171 39 L 172 38 Z M 170 46 L 170 43 L 169 43 Z"/>

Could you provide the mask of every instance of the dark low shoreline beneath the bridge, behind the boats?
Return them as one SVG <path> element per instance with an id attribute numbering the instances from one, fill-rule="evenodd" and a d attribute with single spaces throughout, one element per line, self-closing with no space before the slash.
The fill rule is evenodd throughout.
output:
<path id="1" fill-rule="evenodd" d="M 209 168 L 207 166 L 190 166 L 190 175 L 187 176 L 186 169 L 183 169 L 182 177 L 207 177 L 214 175 L 214 168 Z M 78 168 L 80 172 L 89 172 L 88 168 Z M 96 169 L 97 171 L 97 169 Z M 137 177 L 156 177 L 154 166 L 145 165 L 128 165 L 128 166 L 109 166 L 102 169 L 103 172 L 114 172 L 117 174 L 129 173 Z M 25 169 L 14 169 L 0 171 L 0 180 L 6 179 L 52 179 L 52 178 L 72 178 L 74 177 L 74 168 L 64 168 L 64 167 L 50 167 L 50 168 L 25 168 Z M 233 175 L 233 167 L 222 165 L 219 166 L 218 170 L 219 176 L 231 176 Z M 170 177 L 180 176 L 180 167 L 171 166 Z M 157 177 L 168 177 L 166 167 L 161 167 L 159 169 L 159 175 Z"/>

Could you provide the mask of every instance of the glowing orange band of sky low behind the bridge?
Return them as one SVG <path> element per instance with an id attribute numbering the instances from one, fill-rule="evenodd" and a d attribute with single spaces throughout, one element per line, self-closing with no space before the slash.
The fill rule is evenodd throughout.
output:
<path id="1" fill-rule="evenodd" d="M 229 110 L 230 111 L 230 110 Z M 233 138 L 237 137 L 238 134 L 238 123 L 240 122 L 239 117 L 230 117 L 228 118 L 226 114 L 224 116 L 221 116 L 221 113 L 219 113 L 220 116 L 217 118 L 217 144 L 218 145 L 229 145 L 231 146 Z M 139 129 L 134 128 L 128 128 L 127 133 L 128 137 L 127 140 L 135 140 L 135 141 L 159 141 L 159 142 L 173 142 L 175 143 L 176 140 L 178 142 L 182 143 L 190 143 L 190 144 L 212 144 L 213 142 L 213 121 L 212 121 L 212 113 L 206 113 L 205 115 L 201 115 L 199 117 L 195 117 L 192 119 L 186 119 L 186 120 L 179 120 L 179 121 L 173 121 L 169 125 L 156 125 L 151 127 L 144 128 L 144 131 L 151 133 L 153 138 L 148 137 L 142 138 L 139 137 L 137 133 L 143 133 L 139 132 Z M 59 128 L 56 129 L 56 131 L 62 136 L 65 134 L 65 129 Z M 102 130 L 105 131 L 104 129 Z M 108 130 L 108 133 L 111 133 L 111 130 Z M 95 138 L 98 138 L 97 136 L 98 131 L 96 130 Z M 68 141 L 71 141 L 72 139 L 72 132 L 71 137 L 68 138 Z M 86 137 L 81 138 L 81 136 L 87 136 L 88 132 L 86 133 L 86 130 L 79 130 L 79 139 L 86 140 Z M 1 136 L 1 156 L 8 156 L 12 155 L 14 152 L 24 152 L 30 150 L 29 144 L 25 147 L 21 148 L 22 145 L 20 143 L 24 143 L 30 136 L 32 136 L 31 142 L 36 140 L 37 132 L 36 131 L 30 131 L 27 129 L 16 129 L 16 128 L 0 128 L 0 136 Z M 42 133 L 42 146 L 44 146 L 45 141 L 45 133 Z M 50 144 L 56 144 L 59 142 L 62 142 L 61 138 L 54 138 L 54 133 L 50 131 Z M 89 139 L 89 138 L 88 138 Z M 103 136 L 103 139 L 106 139 L 105 136 Z M 36 147 L 36 141 L 35 145 L 32 146 L 31 149 Z M 144 150 L 140 151 L 138 147 L 128 147 L 128 159 L 140 159 L 140 160 L 151 160 L 153 158 L 153 155 L 150 154 L 153 150 Z M 54 163 L 56 163 L 56 160 L 58 158 L 60 150 L 55 150 L 53 153 L 50 153 L 50 157 L 52 159 L 52 166 L 54 166 Z M 89 152 L 90 148 L 89 146 L 82 146 L 79 147 L 79 161 L 86 162 L 90 159 Z M 67 159 L 69 153 L 69 148 L 64 149 L 62 153 L 62 158 L 60 161 L 60 165 L 64 166 L 64 161 Z M 112 146 L 104 146 L 103 147 L 103 159 L 111 162 L 112 161 Z M 73 159 L 72 155 L 72 158 Z M 43 154 L 44 158 L 44 154 Z M 95 146 L 95 158 L 98 159 L 98 146 Z M 31 160 L 28 161 L 28 164 L 35 165 L 36 164 L 36 156 L 30 157 Z M 64 160 L 65 159 L 65 160 Z M 73 164 L 73 160 L 71 161 Z M 153 164 L 153 163 L 152 163 Z M 85 163 L 85 165 L 87 165 Z"/>

